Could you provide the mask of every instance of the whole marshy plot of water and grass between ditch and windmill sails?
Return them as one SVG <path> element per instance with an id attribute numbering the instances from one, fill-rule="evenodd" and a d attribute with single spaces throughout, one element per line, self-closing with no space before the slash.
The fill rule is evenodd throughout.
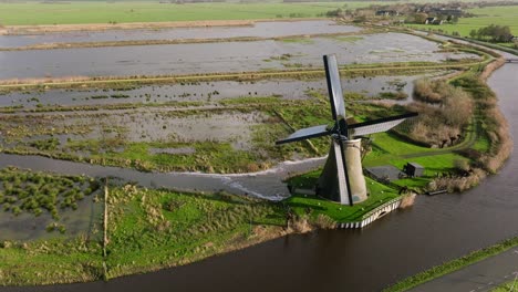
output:
<path id="1" fill-rule="evenodd" d="M 234 155 L 247 165 L 248 156 L 257 150 L 256 133 L 270 118 L 266 112 L 244 108 L 6 115 L 0 117 L 0 131 L 6 133 L 0 143 L 4 150 L 45 153 L 92 164 L 114 159 L 116 165 L 132 168 L 195 167 L 211 173 L 216 161 L 231 166 L 231 160 L 217 156 Z"/>

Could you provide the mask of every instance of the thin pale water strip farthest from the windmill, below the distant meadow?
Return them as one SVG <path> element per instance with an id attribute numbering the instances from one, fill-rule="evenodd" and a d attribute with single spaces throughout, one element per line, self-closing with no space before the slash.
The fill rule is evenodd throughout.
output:
<path id="1" fill-rule="evenodd" d="M 345 33 L 361 29 L 338 25 L 333 21 L 257 22 L 251 27 L 174 28 L 160 30 L 108 30 L 101 32 L 61 32 L 39 35 L 0 35 L 0 48 L 38 43 L 106 42 L 138 40 L 222 39 L 239 36 L 276 38 L 299 34 Z"/>

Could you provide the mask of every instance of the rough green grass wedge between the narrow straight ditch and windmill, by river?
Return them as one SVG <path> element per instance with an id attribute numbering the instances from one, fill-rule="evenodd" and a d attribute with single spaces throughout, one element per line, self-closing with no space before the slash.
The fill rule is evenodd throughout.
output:
<path id="1" fill-rule="evenodd" d="M 108 278 L 186 264 L 267 239 L 280 205 L 245 197 L 114 189 L 110 195 Z"/>

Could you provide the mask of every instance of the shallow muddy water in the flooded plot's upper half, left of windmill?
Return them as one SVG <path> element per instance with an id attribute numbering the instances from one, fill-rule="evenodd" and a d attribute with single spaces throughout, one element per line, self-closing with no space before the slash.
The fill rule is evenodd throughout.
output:
<path id="1" fill-rule="evenodd" d="M 113 114 L 86 112 L 52 116 L 29 115 L 21 118 L 3 116 L 1 121 L 4 128 L 11 128 L 3 137 L 6 140 L 27 142 L 32 138 L 60 137 L 61 142 L 65 142 L 81 136 L 84 139 L 117 137 L 123 143 L 170 139 L 185 143 L 239 139 L 246 143 L 248 128 L 262 123 L 265 118 L 261 113 L 241 113 L 231 109 L 205 112 L 143 109 Z M 15 132 L 17 129 L 19 132 Z"/>

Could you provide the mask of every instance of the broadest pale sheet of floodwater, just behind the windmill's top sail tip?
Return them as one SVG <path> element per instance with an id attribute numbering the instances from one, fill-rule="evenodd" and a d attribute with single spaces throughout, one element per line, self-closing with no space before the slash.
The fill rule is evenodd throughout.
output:
<path id="1" fill-rule="evenodd" d="M 369 48 L 369 50 L 365 50 Z M 438 44 L 402 33 L 364 35 L 355 42 L 333 38 L 0 52 L 0 79 L 194 74 L 318 66 L 322 54 L 340 64 L 445 61 L 476 58 L 437 52 Z M 279 60 L 290 54 L 289 60 Z"/>

